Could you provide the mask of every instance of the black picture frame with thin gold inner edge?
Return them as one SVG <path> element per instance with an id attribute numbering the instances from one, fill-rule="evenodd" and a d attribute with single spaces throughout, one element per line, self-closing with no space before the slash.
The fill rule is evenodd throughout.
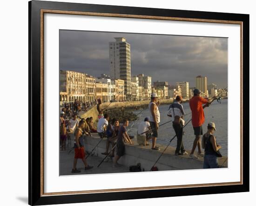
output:
<path id="1" fill-rule="evenodd" d="M 249 191 L 249 15 L 32 0 L 29 7 L 29 205 Z M 44 192 L 44 15 L 87 15 L 240 26 L 240 181 L 179 186 Z M 48 84 L 48 83 L 47 83 Z M 246 101 L 244 101 L 246 100 Z M 56 166 L 57 167 L 57 166 Z"/>

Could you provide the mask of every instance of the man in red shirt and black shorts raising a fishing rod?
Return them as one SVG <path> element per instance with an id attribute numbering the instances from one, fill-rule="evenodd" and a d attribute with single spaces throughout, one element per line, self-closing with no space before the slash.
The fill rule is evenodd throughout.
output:
<path id="1" fill-rule="evenodd" d="M 194 155 L 196 146 L 198 147 L 198 156 L 203 156 L 201 151 L 201 135 L 202 135 L 202 124 L 204 123 L 204 112 L 205 107 L 209 107 L 208 99 L 200 97 L 201 91 L 195 89 L 194 97 L 189 100 L 189 106 L 192 111 L 192 125 L 194 128 L 195 140 L 193 143 L 193 148 L 190 153 L 190 157 L 193 159 L 198 159 Z M 215 97 L 214 97 L 215 98 Z M 202 104 L 204 104 L 202 106 Z"/>

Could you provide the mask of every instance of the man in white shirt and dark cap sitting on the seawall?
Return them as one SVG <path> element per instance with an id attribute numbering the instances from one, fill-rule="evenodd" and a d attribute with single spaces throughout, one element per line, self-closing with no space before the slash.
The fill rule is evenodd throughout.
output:
<path id="1" fill-rule="evenodd" d="M 137 142 L 139 145 L 149 145 L 148 140 L 151 139 L 151 128 L 149 123 L 149 118 L 146 117 L 144 122 L 141 122 L 138 127 L 138 135 L 137 135 Z"/>

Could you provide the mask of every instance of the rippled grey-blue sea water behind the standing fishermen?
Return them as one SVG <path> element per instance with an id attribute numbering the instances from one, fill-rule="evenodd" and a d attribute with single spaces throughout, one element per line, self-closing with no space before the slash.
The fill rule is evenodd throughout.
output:
<path id="1" fill-rule="evenodd" d="M 186 114 L 191 113 L 191 110 L 189 108 L 189 103 L 182 103 L 184 111 Z M 160 119 L 161 122 L 159 123 L 165 123 L 171 120 L 170 117 L 167 116 L 169 105 L 160 105 L 159 111 L 160 111 Z M 141 110 L 135 110 L 134 113 L 138 114 Z M 136 135 L 138 125 L 141 121 L 144 120 L 145 117 L 149 116 L 149 109 L 146 108 L 141 114 L 141 117 L 138 119 L 138 121 L 135 123 L 135 125 L 131 128 L 129 134 Z M 139 116 L 140 116 L 139 115 Z M 221 103 L 218 103 L 217 101 L 214 101 L 211 103 L 211 105 L 204 109 L 204 115 L 205 115 L 205 122 L 202 125 L 203 134 L 207 132 L 207 124 L 208 122 L 214 122 L 216 125 L 216 141 L 218 144 L 222 146 L 222 149 L 220 149 L 220 152 L 223 156 L 228 156 L 228 99 L 222 99 Z M 185 124 L 191 119 L 191 114 L 184 116 Z M 132 125 L 133 122 L 130 122 L 130 125 Z M 129 127 L 128 127 L 129 129 Z M 189 124 L 183 129 L 185 132 L 183 135 L 183 144 L 185 149 L 192 149 L 193 142 L 195 140 L 194 135 L 194 129 L 192 127 L 192 123 L 189 122 Z M 175 135 L 175 131 L 172 127 L 172 122 L 169 122 L 159 128 L 158 131 L 158 138 L 156 140 L 156 143 L 162 144 L 162 145 L 168 145 L 170 139 L 172 139 Z M 172 147 L 176 147 L 176 138 L 171 142 Z M 197 148 L 195 150 L 195 154 L 197 153 Z M 202 149 L 203 151 L 203 149 Z"/>

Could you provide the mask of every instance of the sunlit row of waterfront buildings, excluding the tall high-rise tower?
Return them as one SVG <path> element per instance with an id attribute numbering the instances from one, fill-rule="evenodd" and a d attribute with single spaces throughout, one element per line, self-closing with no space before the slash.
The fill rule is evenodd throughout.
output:
<path id="1" fill-rule="evenodd" d="M 202 78 L 205 81 L 202 81 Z M 220 90 L 216 84 L 207 85 L 207 77 L 195 77 L 196 88 L 202 91 L 203 97 L 214 97 Z M 206 85 L 206 86 L 205 86 Z M 125 92 L 125 81 L 123 79 L 111 79 L 110 76 L 101 74 L 95 78 L 86 73 L 76 71 L 60 71 L 60 101 L 92 102 L 101 98 L 103 102 L 110 101 L 140 101 L 150 100 L 151 93 L 157 93 L 159 99 L 171 99 L 181 95 L 184 99 L 193 96 L 195 87 L 189 87 L 189 82 L 176 82 L 168 85 L 168 82 L 151 82 L 151 77 L 139 74 L 131 77 L 130 94 Z M 227 97 L 228 92 L 223 91 L 222 97 Z"/>

